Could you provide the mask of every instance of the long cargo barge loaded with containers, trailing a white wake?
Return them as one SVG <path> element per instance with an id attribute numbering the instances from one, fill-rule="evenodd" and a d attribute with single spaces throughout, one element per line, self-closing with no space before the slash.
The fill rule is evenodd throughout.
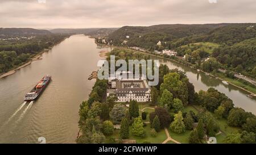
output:
<path id="1" fill-rule="evenodd" d="M 30 93 L 27 93 L 24 97 L 25 101 L 32 101 L 36 100 L 40 97 L 40 95 L 43 93 L 44 89 L 48 86 L 49 82 L 51 81 L 51 76 L 44 76 L 38 84 L 30 91 Z"/>

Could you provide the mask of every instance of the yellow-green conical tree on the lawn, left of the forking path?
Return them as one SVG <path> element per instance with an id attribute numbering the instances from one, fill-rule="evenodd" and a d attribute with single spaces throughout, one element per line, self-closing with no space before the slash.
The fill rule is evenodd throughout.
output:
<path id="1" fill-rule="evenodd" d="M 146 131 L 143 128 L 143 122 L 141 117 L 134 119 L 133 125 L 131 125 L 131 133 L 133 133 L 134 136 L 146 136 Z"/>

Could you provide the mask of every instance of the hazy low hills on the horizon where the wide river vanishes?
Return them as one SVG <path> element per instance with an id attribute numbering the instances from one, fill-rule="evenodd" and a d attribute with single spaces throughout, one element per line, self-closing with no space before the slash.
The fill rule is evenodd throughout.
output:
<path id="1" fill-rule="evenodd" d="M 109 35 L 118 28 L 57 28 L 50 30 L 52 33 L 75 33 L 86 35 Z"/>

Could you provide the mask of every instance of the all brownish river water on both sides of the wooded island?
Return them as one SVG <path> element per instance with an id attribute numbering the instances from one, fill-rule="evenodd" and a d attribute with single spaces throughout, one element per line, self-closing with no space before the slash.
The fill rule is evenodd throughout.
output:
<path id="1" fill-rule="evenodd" d="M 93 39 L 74 35 L 53 47 L 42 60 L 18 70 L 15 74 L 0 79 L 0 143 L 75 143 L 79 120 L 79 104 L 88 98 L 95 80 L 88 76 L 97 70 L 102 59 Z M 220 80 L 197 73 L 171 61 L 162 60 L 170 68 L 187 73 L 196 91 L 215 87 L 233 99 L 238 107 L 256 114 L 256 101 L 234 86 L 224 86 Z M 23 97 L 46 74 L 52 81 L 42 96 L 31 103 Z"/>

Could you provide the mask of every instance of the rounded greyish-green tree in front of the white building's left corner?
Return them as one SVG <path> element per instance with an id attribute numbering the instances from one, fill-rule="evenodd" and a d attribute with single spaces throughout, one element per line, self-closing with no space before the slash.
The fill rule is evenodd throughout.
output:
<path id="1" fill-rule="evenodd" d="M 115 104 L 112 111 L 110 111 L 110 119 L 114 124 L 119 124 L 125 116 L 126 108 L 122 104 Z"/>

